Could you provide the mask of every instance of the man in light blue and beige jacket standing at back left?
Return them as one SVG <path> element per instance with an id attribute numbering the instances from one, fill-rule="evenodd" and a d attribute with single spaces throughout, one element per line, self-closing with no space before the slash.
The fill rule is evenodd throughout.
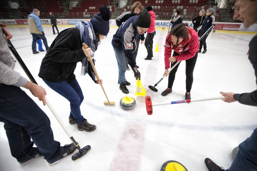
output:
<path id="1" fill-rule="evenodd" d="M 32 34 L 32 52 L 33 52 L 33 54 L 39 53 L 38 51 L 36 51 L 36 41 L 38 38 L 43 40 L 46 51 L 49 49 L 39 16 L 40 16 L 40 11 L 35 8 L 35 9 L 33 9 L 33 12 L 31 14 L 29 14 L 27 17 L 29 28 L 30 28 L 30 34 Z"/>

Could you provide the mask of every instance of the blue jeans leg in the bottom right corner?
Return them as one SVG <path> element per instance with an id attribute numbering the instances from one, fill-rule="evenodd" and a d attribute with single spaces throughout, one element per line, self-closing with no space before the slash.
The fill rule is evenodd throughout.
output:
<path id="1" fill-rule="evenodd" d="M 232 165 L 226 171 L 256 171 L 257 128 L 252 135 L 239 145 L 239 151 Z"/>

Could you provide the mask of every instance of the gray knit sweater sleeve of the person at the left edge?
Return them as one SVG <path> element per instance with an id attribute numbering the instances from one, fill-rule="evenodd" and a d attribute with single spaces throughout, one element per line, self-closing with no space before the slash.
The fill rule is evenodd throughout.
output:
<path id="1" fill-rule="evenodd" d="M 27 79 L 14 71 L 15 61 L 0 29 L 0 83 L 17 87 L 27 84 Z"/>

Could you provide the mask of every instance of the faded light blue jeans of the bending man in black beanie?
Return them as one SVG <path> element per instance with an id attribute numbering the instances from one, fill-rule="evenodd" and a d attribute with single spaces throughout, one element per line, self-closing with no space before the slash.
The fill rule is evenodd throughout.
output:
<path id="1" fill-rule="evenodd" d="M 128 65 L 127 58 L 125 57 L 124 51 L 123 50 L 116 50 L 113 48 L 117 63 L 118 63 L 118 68 L 119 68 L 119 83 L 124 84 L 125 83 L 125 72 L 126 68 Z"/>

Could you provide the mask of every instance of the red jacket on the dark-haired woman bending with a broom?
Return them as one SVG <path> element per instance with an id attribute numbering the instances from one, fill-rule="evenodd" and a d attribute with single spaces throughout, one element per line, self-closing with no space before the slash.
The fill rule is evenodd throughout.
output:
<path id="1" fill-rule="evenodd" d="M 191 29 L 191 28 L 190 28 Z M 164 51 L 164 63 L 165 63 L 165 68 L 169 69 L 170 68 L 170 62 L 169 62 L 169 58 L 171 57 L 171 47 L 169 44 L 167 44 L 167 39 L 169 37 L 170 33 L 168 33 L 166 39 L 165 39 L 165 51 Z M 171 41 L 171 39 L 169 40 L 169 43 L 173 43 Z M 195 56 L 195 54 L 197 53 L 198 49 L 199 49 L 199 38 L 198 38 L 198 34 L 196 33 L 196 31 L 194 29 L 192 29 L 192 34 L 191 34 L 191 39 L 189 40 L 188 44 L 186 44 L 186 47 L 184 48 L 184 50 L 182 52 L 178 52 L 179 53 L 178 56 L 176 57 L 177 61 L 183 61 L 183 60 L 188 60 L 190 58 L 193 58 Z"/>

